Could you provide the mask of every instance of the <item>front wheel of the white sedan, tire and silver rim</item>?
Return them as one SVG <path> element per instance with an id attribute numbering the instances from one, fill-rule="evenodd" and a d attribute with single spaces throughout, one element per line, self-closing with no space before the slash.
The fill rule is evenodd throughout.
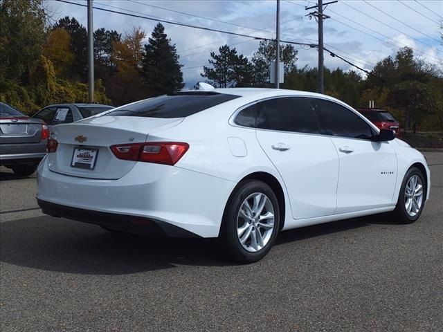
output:
<path id="1" fill-rule="evenodd" d="M 394 214 L 398 223 L 414 223 L 419 219 L 426 200 L 426 182 L 417 167 L 411 167 L 401 183 Z"/>

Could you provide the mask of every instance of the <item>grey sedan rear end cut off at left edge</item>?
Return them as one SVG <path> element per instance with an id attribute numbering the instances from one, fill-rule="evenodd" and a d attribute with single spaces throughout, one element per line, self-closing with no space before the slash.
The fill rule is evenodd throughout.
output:
<path id="1" fill-rule="evenodd" d="M 0 165 L 19 176 L 33 174 L 46 155 L 48 137 L 48 127 L 42 120 L 31 119 L 0 102 Z"/>

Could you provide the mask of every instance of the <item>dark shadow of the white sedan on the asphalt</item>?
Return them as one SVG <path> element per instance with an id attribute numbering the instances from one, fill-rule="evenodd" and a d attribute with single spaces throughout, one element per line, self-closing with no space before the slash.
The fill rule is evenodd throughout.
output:
<path id="1" fill-rule="evenodd" d="M 374 220 L 375 219 L 375 220 Z M 351 219 L 279 234 L 275 246 L 365 227 L 377 221 Z M 96 225 L 51 216 L 6 221 L 0 227 L 0 260 L 62 273 L 125 275 L 188 266 L 232 266 L 213 239 L 168 239 L 112 233 Z"/>

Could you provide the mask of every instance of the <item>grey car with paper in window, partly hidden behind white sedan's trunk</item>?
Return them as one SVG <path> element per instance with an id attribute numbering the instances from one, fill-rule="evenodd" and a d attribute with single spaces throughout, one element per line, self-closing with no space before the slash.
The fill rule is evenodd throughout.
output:
<path id="1" fill-rule="evenodd" d="M 35 113 L 33 118 L 42 119 L 51 127 L 96 116 L 112 108 L 112 106 L 101 104 L 53 104 Z"/>

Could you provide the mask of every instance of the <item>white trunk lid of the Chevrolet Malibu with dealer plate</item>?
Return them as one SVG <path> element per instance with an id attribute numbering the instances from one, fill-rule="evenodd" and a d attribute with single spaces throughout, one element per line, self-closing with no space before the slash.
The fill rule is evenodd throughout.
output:
<path id="1" fill-rule="evenodd" d="M 53 172 L 69 176 L 121 178 L 137 162 L 116 158 L 110 149 L 112 145 L 146 142 L 148 134 L 174 127 L 182 120 L 99 116 L 57 125 L 51 131 L 51 136 L 58 142 L 57 151 L 48 154 L 48 167 Z M 89 158 L 91 164 L 82 164 L 82 158 Z"/>

